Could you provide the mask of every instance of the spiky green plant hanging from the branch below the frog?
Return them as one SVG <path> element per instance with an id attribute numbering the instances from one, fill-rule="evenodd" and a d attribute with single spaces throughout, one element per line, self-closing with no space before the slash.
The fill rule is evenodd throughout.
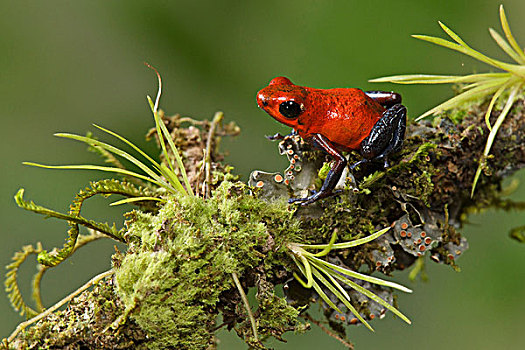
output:
<path id="1" fill-rule="evenodd" d="M 399 316 L 403 321 L 410 324 L 410 320 L 405 315 L 403 315 L 398 309 L 390 305 L 385 300 L 381 299 L 379 296 L 372 293 L 370 290 L 363 288 L 356 282 L 352 281 L 348 277 L 359 279 L 362 281 L 367 281 L 370 283 L 375 283 L 381 286 L 399 289 L 407 293 L 412 293 L 412 290 L 400 284 L 385 281 L 380 278 L 375 278 L 369 275 L 364 275 L 349 270 L 347 268 L 332 264 L 326 260 L 319 259 L 320 257 L 328 255 L 328 253 L 330 253 L 332 250 L 348 249 L 373 241 L 374 239 L 388 232 L 388 230 L 390 230 L 390 227 L 379 230 L 367 237 L 343 243 L 335 243 L 337 239 L 337 230 L 334 230 L 332 238 L 330 239 L 330 242 L 328 244 L 307 245 L 299 243 L 288 243 L 287 246 L 291 252 L 293 260 L 297 264 L 297 267 L 304 275 L 304 277 L 306 277 L 305 282 L 301 277 L 294 273 L 296 280 L 299 281 L 299 283 L 301 283 L 305 288 L 314 288 L 314 290 L 317 292 L 317 294 L 319 294 L 319 296 L 321 297 L 321 299 L 323 299 L 324 302 L 326 302 L 332 309 L 342 313 L 342 311 L 337 307 L 337 305 L 335 305 L 335 303 L 332 300 L 330 300 L 330 298 L 326 295 L 323 288 L 321 288 L 321 285 L 324 286 L 326 289 L 332 292 L 348 308 L 348 310 L 350 310 L 371 331 L 374 331 L 374 329 L 352 305 L 350 296 L 348 295 L 347 291 L 341 286 L 340 282 L 348 285 L 350 288 L 367 296 L 376 303 L 384 306 L 385 308 Z M 311 253 L 307 251 L 308 249 L 322 250 L 318 253 Z M 321 285 L 318 281 L 321 283 Z"/>

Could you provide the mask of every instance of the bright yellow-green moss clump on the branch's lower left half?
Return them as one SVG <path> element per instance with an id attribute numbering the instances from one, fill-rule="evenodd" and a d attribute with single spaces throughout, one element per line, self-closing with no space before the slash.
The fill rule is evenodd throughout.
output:
<path id="1" fill-rule="evenodd" d="M 128 231 L 133 243 L 115 277 L 130 317 L 154 338 L 150 348 L 208 348 L 221 293 L 233 288 L 231 273 L 243 275 L 259 265 L 269 240 L 280 246 L 271 255 L 287 259 L 282 243 L 298 232 L 293 212 L 246 191 L 226 181 L 208 200 L 171 198 L 158 215 L 135 214 Z M 283 327 L 277 314 L 286 326 L 297 322 L 298 312 L 283 299 L 263 295 L 263 334 L 283 333 L 275 331 Z"/>

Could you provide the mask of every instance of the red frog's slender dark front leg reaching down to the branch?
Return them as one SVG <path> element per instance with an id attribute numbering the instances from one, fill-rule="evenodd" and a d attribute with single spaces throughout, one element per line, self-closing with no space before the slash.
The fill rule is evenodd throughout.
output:
<path id="1" fill-rule="evenodd" d="M 321 186 L 319 192 L 316 192 L 313 195 L 305 198 L 290 198 L 288 200 L 288 203 L 302 202 L 301 205 L 307 205 L 321 198 L 330 197 L 336 194 L 334 192 L 334 188 L 335 185 L 337 185 L 337 183 L 339 182 L 339 179 L 341 178 L 341 174 L 343 173 L 343 170 L 346 167 L 347 160 L 343 156 L 343 154 L 334 147 L 330 140 L 328 140 L 323 135 L 315 134 L 312 137 L 311 141 L 313 141 L 313 143 L 319 148 L 321 148 L 323 151 L 334 157 L 335 162 L 330 168 L 330 171 L 328 172 L 328 175 L 326 176 L 326 179 L 323 182 L 323 186 Z"/>

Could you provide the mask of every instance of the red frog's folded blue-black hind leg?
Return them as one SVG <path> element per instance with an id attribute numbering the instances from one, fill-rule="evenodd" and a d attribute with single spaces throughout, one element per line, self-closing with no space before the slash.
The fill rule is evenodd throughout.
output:
<path id="1" fill-rule="evenodd" d="M 383 112 L 370 134 L 361 142 L 361 155 L 363 160 L 353 164 L 357 165 L 375 160 L 382 160 L 385 168 L 388 167 L 388 155 L 401 149 L 405 138 L 407 122 L 406 107 L 396 104 Z"/>

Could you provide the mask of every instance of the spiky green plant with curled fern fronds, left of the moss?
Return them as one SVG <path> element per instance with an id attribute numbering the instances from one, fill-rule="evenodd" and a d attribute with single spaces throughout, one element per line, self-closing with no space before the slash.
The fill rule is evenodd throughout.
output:
<path id="1" fill-rule="evenodd" d="M 148 65 L 149 66 L 149 65 Z M 149 66 L 153 70 L 155 70 L 153 67 Z M 119 175 L 136 178 L 151 184 L 154 184 L 158 186 L 159 188 L 163 188 L 165 192 L 172 193 L 172 194 L 182 194 L 182 195 L 191 195 L 193 196 L 193 191 L 191 189 L 188 176 L 186 174 L 186 171 L 184 169 L 184 165 L 182 163 L 182 158 L 179 155 L 179 152 L 177 148 L 175 147 L 175 144 L 173 143 L 173 140 L 171 138 L 171 135 L 164 125 L 164 122 L 160 119 L 158 115 L 158 103 L 162 92 L 162 81 L 160 78 L 159 73 L 155 70 L 158 77 L 158 92 L 157 97 L 155 99 L 155 103 L 153 103 L 152 99 L 147 96 L 148 102 L 151 108 L 151 111 L 153 113 L 153 117 L 155 120 L 155 127 L 157 129 L 157 134 L 159 135 L 159 142 L 161 144 L 163 155 L 166 159 L 167 166 L 164 163 L 158 163 L 153 158 L 151 158 L 148 154 L 146 154 L 144 151 L 142 151 L 139 147 L 134 145 L 132 142 L 128 141 L 126 138 L 118 135 L 117 133 L 107 130 L 103 127 L 100 127 L 98 125 L 95 125 L 98 129 L 116 137 L 117 139 L 123 141 L 127 145 L 131 146 L 135 151 L 137 151 L 140 155 L 142 155 L 147 162 L 142 162 L 136 157 L 132 156 L 131 154 L 114 147 L 110 144 L 98 141 L 97 139 L 91 137 L 91 136 L 80 136 L 80 135 L 74 135 L 74 134 L 67 134 L 67 133 L 58 133 L 55 134 L 58 137 L 73 139 L 77 141 L 84 142 L 88 144 L 91 148 L 91 150 L 96 150 L 99 154 L 104 156 L 106 159 L 109 160 L 110 163 L 112 163 L 114 166 L 99 166 L 99 165 L 43 165 L 38 163 L 32 163 L 32 162 L 24 162 L 26 165 L 41 167 L 41 168 L 50 168 L 50 169 L 73 169 L 73 170 L 99 170 L 104 172 L 112 172 Z M 166 146 L 166 142 L 164 139 L 167 140 L 168 146 Z M 171 159 L 170 153 L 168 153 L 168 147 L 171 151 L 171 154 L 175 156 L 175 159 Z M 137 172 L 133 172 L 130 170 L 125 169 L 120 162 L 113 156 L 116 155 L 118 157 L 124 158 L 134 165 L 136 165 L 139 169 L 141 169 L 144 174 L 140 174 Z M 184 181 L 184 186 L 182 186 L 178 174 L 175 170 L 174 163 L 177 163 L 178 170 L 182 176 L 182 179 Z M 81 216 L 80 211 L 83 205 L 83 202 L 86 199 L 89 199 L 96 195 L 103 195 L 103 196 L 109 196 L 111 194 L 119 194 L 123 195 L 127 198 L 123 200 L 116 201 L 112 203 L 111 205 L 118 205 L 123 203 L 131 203 L 131 202 L 144 202 L 144 201 L 160 201 L 164 202 L 165 200 L 161 197 L 162 193 L 159 191 L 150 190 L 145 187 L 141 186 L 135 186 L 131 183 L 120 181 L 120 180 L 101 180 L 98 182 L 92 182 L 89 187 L 87 187 L 84 190 L 81 190 L 73 200 L 73 202 L 70 205 L 70 211 L 69 213 L 60 213 L 57 211 L 54 211 L 52 209 L 45 208 L 43 206 L 35 204 L 33 201 L 26 201 L 23 198 L 24 195 L 24 189 L 21 188 L 17 194 L 15 195 L 15 201 L 18 204 L 19 207 L 35 212 L 37 214 L 45 215 L 46 217 L 54 217 L 61 220 L 65 220 L 68 222 L 68 225 L 70 226 L 70 229 L 68 231 L 68 237 L 66 238 L 66 242 L 64 243 L 64 246 L 61 249 L 53 249 L 51 252 L 47 252 L 46 250 L 43 250 L 41 245 L 38 244 L 37 248 L 34 248 L 32 246 L 25 246 L 22 248 L 22 251 L 17 252 L 13 256 L 13 263 L 11 263 L 9 266 L 7 266 L 8 272 L 6 275 L 6 281 L 5 281 L 5 287 L 6 291 L 8 292 L 9 299 L 11 301 L 11 304 L 16 310 L 20 310 L 22 314 L 25 314 L 26 316 L 34 316 L 37 312 L 41 312 L 43 310 L 42 302 L 40 300 L 40 280 L 42 277 L 43 272 L 50 268 L 54 267 L 61 262 L 63 262 L 65 259 L 67 259 L 73 252 L 83 246 L 84 244 L 93 241 L 92 237 L 96 236 L 96 239 L 100 238 L 101 235 L 95 234 L 95 235 L 80 235 L 79 234 L 79 225 L 82 225 L 84 227 L 87 227 L 88 229 L 94 230 L 96 232 L 99 232 L 100 234 L 104 235 L 105 237 L 109 237 L 112 239 L 115 239 L 117 241 L 124 242 L 124 229 L 117 230 L 115 227 L 115 224 L 112 226 L 108 225 L 107 223 L 99 223 L 94 220 L 89 220 Z M 31 309 L 27 304 L 24 302 L 24 299 L 22 298 L 22 295 L 20 293 L 20 290 L 18 288 L 17 283 L 17 272 L 19 266 L 26 260 L 26 258 L 29 255 L 36 254 L 39 265 L 39 272 L 35 275 L 34 278 L 34 284 L 33 284 L 33 297 L 36 301 L 36 304 L 38 306 L 38 311 L 35 311 Z"/>

